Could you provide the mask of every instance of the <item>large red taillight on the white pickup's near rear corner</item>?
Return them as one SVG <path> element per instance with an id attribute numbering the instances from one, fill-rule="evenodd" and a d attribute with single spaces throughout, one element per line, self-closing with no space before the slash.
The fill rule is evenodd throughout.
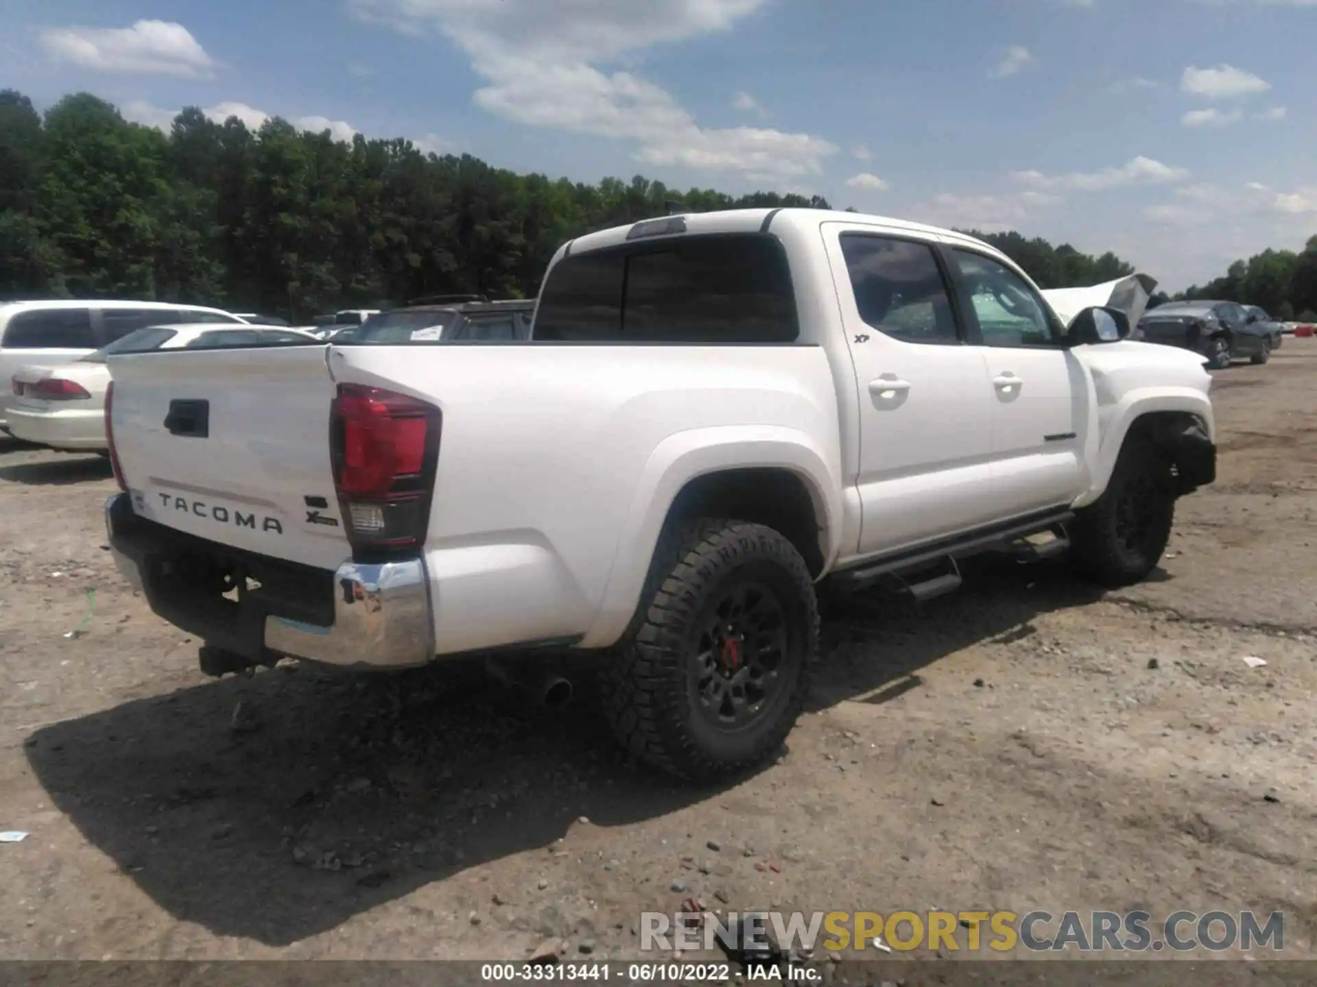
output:
<path id="1" fill-rule="evenodd" d="M 441 424 L 439 408 L 425 401 L 338 384 L 329 449 L 354 549 L 414 549 L 425 541 Z"/>

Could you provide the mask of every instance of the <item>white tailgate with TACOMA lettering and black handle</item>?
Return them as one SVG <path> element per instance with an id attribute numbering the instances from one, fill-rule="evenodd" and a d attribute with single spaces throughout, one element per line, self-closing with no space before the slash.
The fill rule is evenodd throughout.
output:
<path id="1" fill-rule="evenodd" d="M 133 511 L 209 541 L 335 569 L 350 557 L 329 458 L 325 346 L 109 358 Z"/>

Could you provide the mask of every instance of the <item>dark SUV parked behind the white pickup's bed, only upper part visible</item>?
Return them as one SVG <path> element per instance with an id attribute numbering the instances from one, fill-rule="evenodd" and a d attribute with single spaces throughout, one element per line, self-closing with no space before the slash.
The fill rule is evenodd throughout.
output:
<path id="1" fill-rule="evenodd" d="M 335 337 L 352 343 L 524 342 L 531 338 L 535 299 L 490 301 L 482 295 L 416 299 L 404 308 L 370 316 L 360 326 Z"/>

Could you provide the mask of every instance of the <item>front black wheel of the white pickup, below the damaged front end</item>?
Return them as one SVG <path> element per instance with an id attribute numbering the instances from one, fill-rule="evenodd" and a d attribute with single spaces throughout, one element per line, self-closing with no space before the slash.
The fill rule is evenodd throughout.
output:
<path id="1" fill-rule="evenodd" d="M 1162 561 L 1173 520 L 1171 465 L 1143 440 L 1126 440 L 1106 491 L 1075 519 L 1071 559 L 1096 583 L 1130 586 Z"/>

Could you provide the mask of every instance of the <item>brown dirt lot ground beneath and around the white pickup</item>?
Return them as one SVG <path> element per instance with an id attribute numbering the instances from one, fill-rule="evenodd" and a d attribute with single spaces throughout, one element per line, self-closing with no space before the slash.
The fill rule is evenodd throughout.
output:
<path id="1" fill-rule="evenodd" d="M 789 751 L 718 791 L 630 769 L 587 705 L 452 674 L 205 679 L 113 571 L 104 461 L 8 446 L 0 829 L 30 836 L 0 844 L 0 958 L 632 955 L 639 913 L 691 895 L 1283 909 L 1306 955 L 1317 342 L 1214 399 L 1220 482 L 1156 578 L 990 563 L 919 609 L 832 604 Z"/>

